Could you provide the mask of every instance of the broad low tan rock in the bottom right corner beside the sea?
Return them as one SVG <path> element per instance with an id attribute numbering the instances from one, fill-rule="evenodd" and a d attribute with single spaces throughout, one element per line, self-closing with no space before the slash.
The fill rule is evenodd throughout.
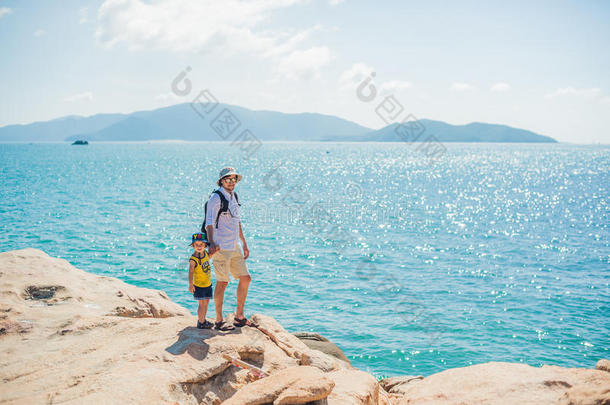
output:
<path id="1" fill-rule="evenodd" d="M 407 387 L 396 404 L 604 404 L 610 373 L 490 362 L 433 374 Z M 586 402 L 584 398 L 588 399 Z M 584 402 L 583 402 L 584 401 Z M 598 402 L 595 402 L 598 401 Z"/>

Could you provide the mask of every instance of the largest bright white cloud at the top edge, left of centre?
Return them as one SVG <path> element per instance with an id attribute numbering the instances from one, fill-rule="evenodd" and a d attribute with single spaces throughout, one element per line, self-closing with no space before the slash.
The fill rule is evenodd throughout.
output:
<path id="1" fill-rule="evenodd" d="M 293 51 L 303 33 L 258 30 L 269 14 L 301 0 L 106 0 L 98 10 L 97 40 L 112 47 L 170 51 L 219 49 L 274 55 Z M 287 48 L 287 43 L 292 46 Z"/>

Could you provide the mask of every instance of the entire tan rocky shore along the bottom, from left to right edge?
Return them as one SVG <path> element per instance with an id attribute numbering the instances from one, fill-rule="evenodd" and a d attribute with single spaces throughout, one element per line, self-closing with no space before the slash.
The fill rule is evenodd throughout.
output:
<path id="1" fill-rule="evenodd" d="M 492 362 L 380 384 L 273 318 L 252 318 L 258 329 L 197 329 L 161 291 L 36 249 L 0 253 L 0 403 L 610 403 L 607 360 L 598 370 Z M 227 355 L 269 376 L 253 380 Z"/>

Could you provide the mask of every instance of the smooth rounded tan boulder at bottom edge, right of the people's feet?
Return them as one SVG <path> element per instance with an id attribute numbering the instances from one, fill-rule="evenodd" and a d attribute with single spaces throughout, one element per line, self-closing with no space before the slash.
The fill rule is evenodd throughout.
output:
<path id="1" fill-rule="evenodd" d="M 297 366 L 246 385 L 224 404 L 304 404 L 326 398 L 334 386 L 320 369 Z"/>

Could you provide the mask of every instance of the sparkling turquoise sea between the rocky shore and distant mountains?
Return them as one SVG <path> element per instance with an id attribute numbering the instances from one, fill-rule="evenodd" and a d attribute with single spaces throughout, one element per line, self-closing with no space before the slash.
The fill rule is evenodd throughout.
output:
<path id="1" fill-rule="evenodd" d="M 610 357 L 610 147 L 445 146 L 431 162 L 402 143 L 3 144 L 0 247 L 194 312 L 190 234 L 231 165 L 247 314 L 319 332 L 377 377 Z"/>

